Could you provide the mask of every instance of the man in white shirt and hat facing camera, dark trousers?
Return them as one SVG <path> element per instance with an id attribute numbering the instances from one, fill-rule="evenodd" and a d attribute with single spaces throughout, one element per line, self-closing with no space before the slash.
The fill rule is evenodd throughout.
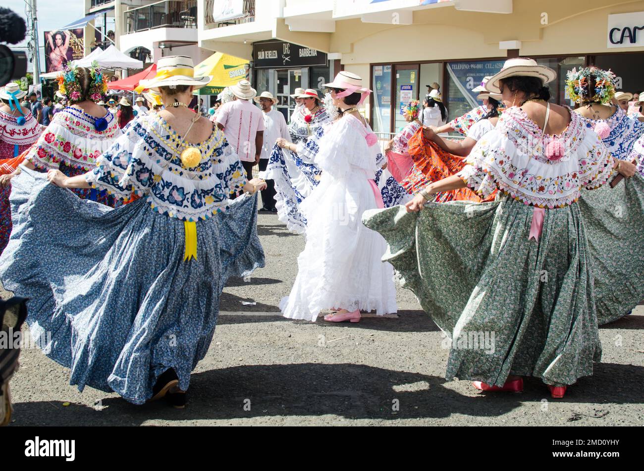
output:
<path id="1" fill-rule="evenodd" d="M 260 172 L 266 170 L 269 165 L 270 152 L 276 140 L 284 138 L 290 142 L 289 129 L 286 125 L 284 115 L 273 109 L 273 105 L 278 102 L 269 91 L 263 91 L 259 97 L 254 100 L 260 104 L 261 111 L 264 115 L 264 142 L 261 146 L 260 154 Z M 260 212 L 278 212 L 275 208 L 275 182 L 266 180 L 267 188 L 261 190 L 262 208 Z"/>

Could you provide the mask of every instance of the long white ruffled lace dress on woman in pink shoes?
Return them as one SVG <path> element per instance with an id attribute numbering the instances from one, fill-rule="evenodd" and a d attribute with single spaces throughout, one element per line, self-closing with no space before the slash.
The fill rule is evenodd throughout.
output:
<path id="1" fill-rule="evenodd" d="M 397 311 L 393 267 L 381 262 L 386 243 L 362 223 L 363 212 L 377 207 L 369 180 L 375 178 L 379 147 L 368 145 L 369 136 L 375 137 L 371 129 L 348 115 L 320 140 L 321 180 L 301 204 L 307 245 L 290 296 L 279 304 L 284 317 L 314 321 L 329 308 Z"/>

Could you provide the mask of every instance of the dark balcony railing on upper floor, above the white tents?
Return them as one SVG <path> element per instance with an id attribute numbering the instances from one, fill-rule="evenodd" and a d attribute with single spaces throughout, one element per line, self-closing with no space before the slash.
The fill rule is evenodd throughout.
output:
<path id="1" fill-rule="evenodd" d="M 128 33 L 155 28 L 196 28 L 196 0 L 169 0 L 152 3 L 128 10 L 126 13 Z"/>

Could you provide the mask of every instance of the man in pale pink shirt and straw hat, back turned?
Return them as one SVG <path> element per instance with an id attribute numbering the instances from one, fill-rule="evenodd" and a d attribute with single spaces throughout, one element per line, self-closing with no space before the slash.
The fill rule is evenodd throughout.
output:
<path id="1" fill-rule="evenodd" d="M 260 163 L 264 143 L 264 118 L 261 110 L 250 101 L 257 95 L 251 82 L 242 80 L 230 89 L 235 98 L 220 106 L 215 122 L 232 149 L 237 152 L 248 179 L 251 180 L 252 167 Z"/>

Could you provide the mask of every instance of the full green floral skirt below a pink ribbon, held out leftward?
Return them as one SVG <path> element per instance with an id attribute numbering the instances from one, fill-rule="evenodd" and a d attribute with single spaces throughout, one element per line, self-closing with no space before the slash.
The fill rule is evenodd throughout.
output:
<path id="1" fill-rule="evenodd" d="M 528 240 L 532 215 L 507 196 L 363 215 L 388 242 L 383 260 L 450 336 L 446 378 L 503 385 L 518 374 L 562 386 L 600 360 L 580 207 L 546 210 L 538 242 Z M 471 342 L 484 335 L 492 348 Z"/>

